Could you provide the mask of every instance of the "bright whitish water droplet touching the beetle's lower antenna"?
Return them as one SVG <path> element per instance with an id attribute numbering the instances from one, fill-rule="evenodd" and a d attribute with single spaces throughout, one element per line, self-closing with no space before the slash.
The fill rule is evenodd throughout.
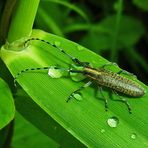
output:
<path id="1" fill-rule="evenodd" d="M 60 78 L 63 76 L 63 71 L 53 66 L 49 68 L 48 75 L 52 78 Z"/>

